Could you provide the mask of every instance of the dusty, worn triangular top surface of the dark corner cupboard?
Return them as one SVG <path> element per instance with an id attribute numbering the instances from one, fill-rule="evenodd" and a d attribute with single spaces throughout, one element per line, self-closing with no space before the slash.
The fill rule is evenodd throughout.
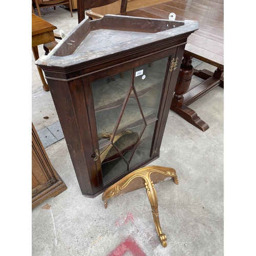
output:
<path id="1" fill-rule="evenodd" d="M 102 19 L 83 20 L 59 44 L 36 65 L 45 67 L 67 67 L 92 61 L 101 57 L 113 57 L 164 39 L 193 33 L 198 22 L 167 19 L 140 18 L 121 15 L 105 15 Z"/>

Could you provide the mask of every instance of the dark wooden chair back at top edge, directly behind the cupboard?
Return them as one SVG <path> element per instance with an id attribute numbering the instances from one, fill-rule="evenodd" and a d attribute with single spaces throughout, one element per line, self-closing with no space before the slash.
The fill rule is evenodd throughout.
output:
<path id="1" fill-rule="evenodd" d="M 102 18 L 105 14 L 125 12 L 126 7 L 127 0 L 77 0 L 78 23 L 86 18 L 86 15 L 92 20 Z M 86 12 L 90 9 L 91 11 Z"/>

